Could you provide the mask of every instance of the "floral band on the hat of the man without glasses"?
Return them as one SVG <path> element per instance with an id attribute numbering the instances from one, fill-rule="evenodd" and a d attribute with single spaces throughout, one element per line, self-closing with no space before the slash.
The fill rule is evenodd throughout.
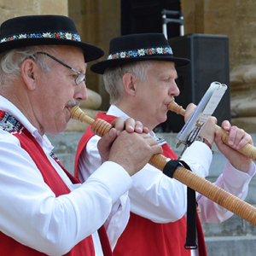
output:
<path id="1" fill-rule="evenodd" d="M 133 49 L 129 51 L 121 51 L 113 55 L 108 55 L 108 60 L 134 58 L 134 57 L 141 57 L 145 55 L 172 55 L 172 48 L 156 47 L 156 48 Z"/>

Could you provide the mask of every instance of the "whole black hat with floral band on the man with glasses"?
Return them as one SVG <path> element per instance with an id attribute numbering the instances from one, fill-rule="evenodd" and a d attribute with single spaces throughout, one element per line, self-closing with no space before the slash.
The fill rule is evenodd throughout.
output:
<path id="1" fill-rule="evenodd" d="M 6 20 L 0 26 L 0 53 L 33 45 L 71 45 L 84 51 L 84 61 L 94 61 L 104 51 L 81 42 L 77 28 L 70 18 L 61 15 L 21 16 Z"/>

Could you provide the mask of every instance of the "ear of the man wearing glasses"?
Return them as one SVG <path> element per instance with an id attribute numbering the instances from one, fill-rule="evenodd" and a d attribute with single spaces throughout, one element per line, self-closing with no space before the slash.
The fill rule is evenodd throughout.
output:
<path id="1" fill-rule="evenodd" d="M 32 59 L 26 59 L 20 65 L 20 72 L 28 90 L 36 89 L 35 73 L 37 64 Z"/>

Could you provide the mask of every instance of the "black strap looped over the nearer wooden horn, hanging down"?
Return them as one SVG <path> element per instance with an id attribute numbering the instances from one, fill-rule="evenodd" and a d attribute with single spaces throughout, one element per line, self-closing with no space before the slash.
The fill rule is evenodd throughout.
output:
<path id="1" fill-rule="evenodd" d="M 163 173 L 168 177 L 173 177 L 176 169 L 185 167 L 190 170 L 190 167 L 183 160 L 169 160 L 163 169 Z M 196 201 L 195 190 L 187 188 L 187 237 L 185 249 L 197 249 L 196 244 Z"/>

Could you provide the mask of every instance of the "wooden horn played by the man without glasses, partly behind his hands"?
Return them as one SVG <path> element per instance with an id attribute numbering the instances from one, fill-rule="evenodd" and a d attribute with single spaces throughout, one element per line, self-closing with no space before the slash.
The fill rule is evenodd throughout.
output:
<path id="1" fill-rule="evenodd" d="M 186 110 L 183 109 L 183 107 L 177 105 L 176 102 L 172 101 L 168 104 L 168 109 L 171 110 L 172 112 L 181 114 L 181 115 L 185 115 Z M 216 127 L 216 131 L 219 131 L 219 133 L 221 134 L 221 139 L 222 141 L 229 146 L 229 132 L 224 131 L 224 129 L 222 129 L 221 127 L 219 127 L 218 125 L 215 125 Z M 237 149 L 236 149 L 237 150 Z M 252 159 L 252 160 L 256 160 L 256 148 L 253 147 L 253 145 L 251 144 L 246 144 L 243 148 L 237 150 L 238 152 L 240 152 L 241 154 L 246 155 L 248 158 Z"/>

